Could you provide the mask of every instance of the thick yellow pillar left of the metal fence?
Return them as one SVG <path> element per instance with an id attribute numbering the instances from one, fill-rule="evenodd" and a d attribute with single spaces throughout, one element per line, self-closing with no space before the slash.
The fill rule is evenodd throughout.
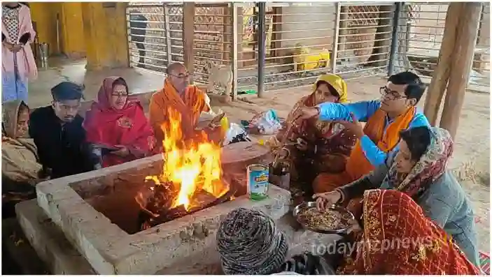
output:
<path id="1" fill-rule="evenodd" d="M 87 70 L 128 67 L 125 2 L 83 2 Z"/>

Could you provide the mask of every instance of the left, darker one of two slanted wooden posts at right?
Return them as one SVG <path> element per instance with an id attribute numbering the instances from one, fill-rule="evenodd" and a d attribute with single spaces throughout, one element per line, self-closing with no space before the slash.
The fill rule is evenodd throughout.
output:
<path id="1" fill-rule="evenodd" d="M 456 41 L 456 29 L 461 18 L 462 8 L 463 3 L 461 2 L 449 3 L 437 66 L 427 90 L 423 113 L 426 114 L 430 125 L 433 126 L 437 124 L 437 115 L 451 72 L 451 61 L 456 57 L 454 55 L 454 42 Z"/>

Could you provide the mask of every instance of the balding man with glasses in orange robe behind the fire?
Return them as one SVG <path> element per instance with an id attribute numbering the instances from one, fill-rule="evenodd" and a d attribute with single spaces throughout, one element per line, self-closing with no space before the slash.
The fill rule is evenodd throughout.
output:
<path id="1" fill-rule="evenodd" d="M 181 63 L 171 63 L 167 68 L 164 88 L 150 98 L 150 124 L 158 144 L 164 140 L 163 124 L 169 124 L 171 112 L 181 117 L 181 132 L 185 140 L 192 139 L 202 132 L 195 130 L 202 112 L 209 112 L 206 94 L 190 85 L 190 73 Z M 223 138 L 221 128 L 204 128 L 208 140 L 218 142 Z"/>

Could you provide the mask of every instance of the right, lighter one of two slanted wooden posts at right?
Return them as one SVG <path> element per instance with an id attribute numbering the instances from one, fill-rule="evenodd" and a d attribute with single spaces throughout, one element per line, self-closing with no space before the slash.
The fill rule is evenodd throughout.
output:
<path id="1" fill-rule="evenodd" d="M 449 5 L 453 4 L 458 4 L 458 2 Z M 455 137 L 458 130 L 482 10 L 482 3 L 479 2 L 463 2 L 461 5 L 460 22 L 456 29 L 456 44 L 453 51 L 454 59 L 451 63 L 449 84 L 440 122 L 440 127 L 449 130 L 451 137 Z"/>

